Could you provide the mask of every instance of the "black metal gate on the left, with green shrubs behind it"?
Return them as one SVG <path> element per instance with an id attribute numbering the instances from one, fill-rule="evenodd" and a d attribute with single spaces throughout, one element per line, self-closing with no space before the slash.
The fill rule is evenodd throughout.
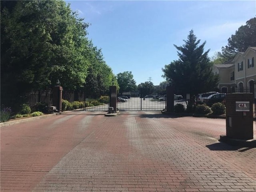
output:
<path id="1" fill-rule="evenodd" d="M 108 111 L 108 108 L 108 95 L 91 96 L 86 90 L 63 90 L 62 92 L 62 111 Z"/>

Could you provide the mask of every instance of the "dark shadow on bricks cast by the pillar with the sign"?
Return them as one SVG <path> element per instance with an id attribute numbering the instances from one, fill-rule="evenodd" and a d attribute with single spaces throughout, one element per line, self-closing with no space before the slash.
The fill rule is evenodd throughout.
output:
<path id="1" fill-rule="evenodd" d="M 232 146 L 223 142 L 206 145 L 206 147 L 212 151 L 237 151 L 238 150 L 239 152 L 245 152 L 247 150 L 252 149 L 252 147 L 244 148 L 242 146 Z"/>

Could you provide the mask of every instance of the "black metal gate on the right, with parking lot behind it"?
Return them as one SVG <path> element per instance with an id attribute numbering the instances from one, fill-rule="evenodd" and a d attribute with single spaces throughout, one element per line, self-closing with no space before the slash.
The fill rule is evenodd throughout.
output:
<path id="1" fill-rule="evenodd" d="M 118 110 L 162 111 L 166 107 L 166 90 L 136 90 L 118 94 Z"/>

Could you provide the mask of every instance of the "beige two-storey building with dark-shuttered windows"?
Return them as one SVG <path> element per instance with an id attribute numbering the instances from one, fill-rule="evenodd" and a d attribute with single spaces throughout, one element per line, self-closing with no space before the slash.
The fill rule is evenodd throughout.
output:
<path id="1" fill-rule="evenodd" d="M 256 47 L 248 47 L 236 54 L 233 60 L 215 64 L 214 74 L 220 75 L 218 88 L 221 92 L 254 92 L 256 89 Z"/>

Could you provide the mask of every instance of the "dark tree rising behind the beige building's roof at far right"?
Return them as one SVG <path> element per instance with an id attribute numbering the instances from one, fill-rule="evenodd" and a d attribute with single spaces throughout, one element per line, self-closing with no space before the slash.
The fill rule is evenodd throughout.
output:
<path id="1" fill-rule="evenodd" d="M 244 52 L 249 46 L 256 46 L 256 17 L 251 18 L 228 38 L 228 45 L 222 47 L 222 58 L 226 61 L 234 58 L 237 52 Z"/>

